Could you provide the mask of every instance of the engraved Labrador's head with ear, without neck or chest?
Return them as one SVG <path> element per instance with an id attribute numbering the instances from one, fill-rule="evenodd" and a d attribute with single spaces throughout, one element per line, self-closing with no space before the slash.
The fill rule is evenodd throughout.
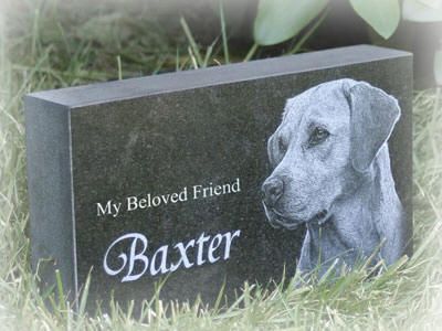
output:
<path id="1" fill-rule="evenodd" d="M 272 174 L 262 185 L 270 223 L 323 222 L 334 202 L 370 172 L 400 116 L 398 102 L 368 83 L 339 79 L 287 100 L 267 141 Z"/>

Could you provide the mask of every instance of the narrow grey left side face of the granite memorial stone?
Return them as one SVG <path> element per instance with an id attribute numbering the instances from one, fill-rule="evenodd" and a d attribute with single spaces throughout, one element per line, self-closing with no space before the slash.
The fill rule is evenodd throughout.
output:
<path id="1" fill-rule="evenodd" d="M 31 264 L 43 287 L 55 284 L 75 292 L 75 245 L 72 213 L 69 109 L 25 98 Z"/>

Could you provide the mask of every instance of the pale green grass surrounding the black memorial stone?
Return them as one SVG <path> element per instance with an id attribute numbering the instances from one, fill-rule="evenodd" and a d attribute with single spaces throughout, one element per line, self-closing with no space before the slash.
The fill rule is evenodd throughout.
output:
<path id="1" fill-rule="evenodd" d="M 245 54 L 229 50 L 223 29 L 219 40 L 203 46 L 194 41 L 186 21 L 181 21 L 182 35 L 170 41 L 143 14 L 134 18 L 127 12 L 101 12 L 77 19 L 62 17 L 55 1 L 23 3 L 20 12 L 10 9 L 9 20 L 2 21 L 0 29 L 0 329 L 439 329 L 442 323 L 440 89 L 417 92 L 414 96 L 415 254 L 370 280 L 368 271 L 359 268 L 333 285 L 265 291 L 245 284 L 238 301 L 223 310 L 207 309 L 199 302 L 178 305 L 154 298 L 145 302 L 143 318 L 124 312 L 117 305 L 112 305 L 108 313 L 88 316 L 84 309 L 86 295 L 75 311 L 63 296 L 59 298 L 61 290 L 39 292 L 29 266 L 22 96 L 36 89 L 155 74 L 165 68 L 234 62 Z M 44 306 L 43 297 L 52 298 L 51 309 Z"/>

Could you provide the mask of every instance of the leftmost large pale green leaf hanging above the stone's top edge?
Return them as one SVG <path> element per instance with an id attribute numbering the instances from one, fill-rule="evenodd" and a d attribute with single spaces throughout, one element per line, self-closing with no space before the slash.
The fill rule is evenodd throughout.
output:
<path id="1" fill-rule="evenodd" d="M 274 45 L 295 36 L 327 6 L 328 0 L 261 0 L 253 36 L 260 45 Z"/>

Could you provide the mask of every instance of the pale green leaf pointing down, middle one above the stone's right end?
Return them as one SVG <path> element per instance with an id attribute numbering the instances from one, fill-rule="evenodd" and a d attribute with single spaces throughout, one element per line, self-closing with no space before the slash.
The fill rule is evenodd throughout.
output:
<path id="1" fill-rule="evenodd" d="M 389 39 L 400 21 L 399 0 L 350 0 L 355 11 L 382 38 Z"/>

